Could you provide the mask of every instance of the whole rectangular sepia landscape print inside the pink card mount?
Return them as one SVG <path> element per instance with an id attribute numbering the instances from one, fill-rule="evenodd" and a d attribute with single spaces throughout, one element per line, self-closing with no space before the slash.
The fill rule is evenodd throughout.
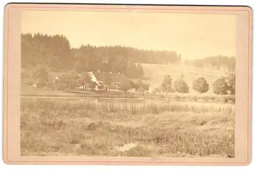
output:
<path id="1" fill-rule="evenodd" d="M 236 21 L 23 10 L 20 156 L 235 158 Z"/>

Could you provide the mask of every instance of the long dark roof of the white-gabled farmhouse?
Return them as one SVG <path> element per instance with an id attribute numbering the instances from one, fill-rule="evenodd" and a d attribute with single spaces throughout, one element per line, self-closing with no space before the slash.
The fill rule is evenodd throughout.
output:
<path id="1" fill-rule="evenodd" d="M 123 74 L 93 71 L 98 81 L 104 82 L 124 82 L 126 77 Z"/>

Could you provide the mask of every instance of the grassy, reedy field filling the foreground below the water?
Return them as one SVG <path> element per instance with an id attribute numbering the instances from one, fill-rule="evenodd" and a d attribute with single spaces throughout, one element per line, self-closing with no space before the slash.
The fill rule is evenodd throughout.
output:
<path id="1" fill-rule="evenodd" d="M 234 157 L 230 104 L 22 98 L 22 156 Z"/>

